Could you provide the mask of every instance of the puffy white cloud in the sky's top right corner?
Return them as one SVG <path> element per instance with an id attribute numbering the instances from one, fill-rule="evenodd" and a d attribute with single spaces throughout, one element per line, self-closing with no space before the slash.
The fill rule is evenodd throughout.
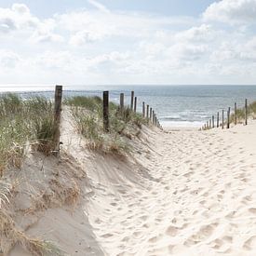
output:
<path id="1" fill-rule="evenodd" d="M 256 0 L 222 0 L 214 2 L 203 13 L 204 20 L 228 23 L 256 21 Z"/>

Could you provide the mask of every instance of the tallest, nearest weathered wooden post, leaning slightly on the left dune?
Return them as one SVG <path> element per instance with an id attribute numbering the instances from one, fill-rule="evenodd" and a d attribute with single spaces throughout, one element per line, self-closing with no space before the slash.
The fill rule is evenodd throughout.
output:
<path id="1" fill-rule="evenodd" d="M 54 99 L 54 131 L 53 131 L 53 155 L 60 155 L 60 137 L 61 137 L 61 100 L 62 86 L 55 87 Z"/>

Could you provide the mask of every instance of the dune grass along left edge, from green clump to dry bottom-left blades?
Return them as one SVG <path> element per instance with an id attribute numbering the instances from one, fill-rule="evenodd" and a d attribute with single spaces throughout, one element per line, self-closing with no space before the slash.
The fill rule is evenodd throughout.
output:
<path id="1" fill-rule="evenodd" d="M 63 255 L 52 243 L 32 239 L 17 230 L 10 210 L 13 186 L 4 177 L 9 168 L 21 168 L 30 143 L 48 154 L 53 135 L 53 106 L 45 98 L 26 101 L 16 94 L 0 97 L 0 252 L 7 255 L 20 244 L 33 255 Z"/>

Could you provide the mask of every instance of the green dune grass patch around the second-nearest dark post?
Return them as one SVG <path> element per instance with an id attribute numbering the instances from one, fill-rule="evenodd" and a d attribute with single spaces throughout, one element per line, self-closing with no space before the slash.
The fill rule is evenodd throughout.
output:
<path id="1" fill-rule="evenodd" d="M 65 104 L 71 106 L 78 131 L 88 140 L 88 147 L 105 153 L 128 153 L 132 136 L 137 136 L 141 125 L 146 124 L 140 114 L 128 108 L 120 113 L 118 106 L 110 102 L 110 132 L 106 133 L 103 131 L 101 98 L 79 96 L 67 99 Z"/>

